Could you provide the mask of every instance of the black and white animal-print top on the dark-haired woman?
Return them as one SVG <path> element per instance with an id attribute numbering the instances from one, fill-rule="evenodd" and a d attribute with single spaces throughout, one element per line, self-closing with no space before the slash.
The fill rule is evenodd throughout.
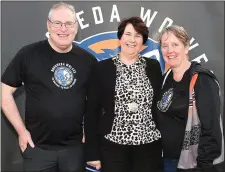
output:
<path id="1" fill-rule="evenodd" d="M 111 133 L 105 138 L 122 145 L 140 145 L 161 137 L 152 120 L 153 88 L 146 75 L 146 60 L 131 65 L 122 63 L 119 55 L 112 58 L 116 65 L 115 118 Z"/>

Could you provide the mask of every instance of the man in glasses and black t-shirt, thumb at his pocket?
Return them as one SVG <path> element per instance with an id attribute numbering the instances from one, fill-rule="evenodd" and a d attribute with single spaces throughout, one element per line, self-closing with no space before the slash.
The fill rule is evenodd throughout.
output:
<path id="1" fill-rule="evenodd" d="M 82 121 L 96 59 L 72 44 L 72 5 L 55 4 L 47 28 L 49 39 L 21 48 L 2 75 L 2 109 L 18 133 L 25 171 L 83 172 Z M 13 98 L 22 85 L 25 124 Z"/>

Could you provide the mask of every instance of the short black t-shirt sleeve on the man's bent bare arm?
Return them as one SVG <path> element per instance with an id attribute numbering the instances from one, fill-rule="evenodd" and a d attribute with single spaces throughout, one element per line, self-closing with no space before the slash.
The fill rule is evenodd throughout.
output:
<path id="1" fill-rule="evenodd" d="M 25 48 L 17 52 L 1 77 L 2 83 L 12 87 L 20 87 L 22 85 L 25 79 L 26 56 Z"/>

